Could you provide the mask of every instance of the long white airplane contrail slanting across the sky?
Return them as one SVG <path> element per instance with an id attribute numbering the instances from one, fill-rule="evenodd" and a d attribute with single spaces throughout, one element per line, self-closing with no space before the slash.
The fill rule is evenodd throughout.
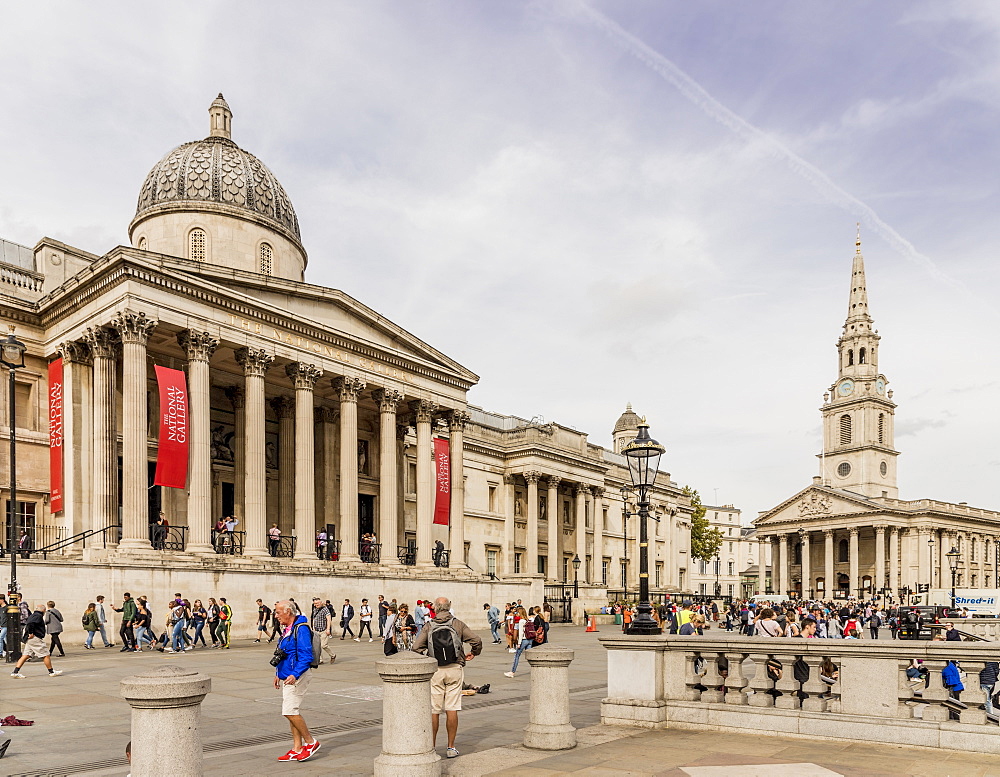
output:
<path id="1" fill-rule="evenodd" d="M 852 214 L 852 216 L 859 217 L 876 234 L 881 236 L 907 259 L 924 267 L 938 279 L 946 281 L 957 288 L 964 288 L 961 283 L 941 272 L 930 257 L 920 253 L 913 243 L 883 221 L 871 206 L 838 186 L 818 167 L 807 162 L 790 148 L 768 133 L 755 127 L 739 114 L 731 111 L 712 97 L 712 95 L 705 91 L 701 84 L 677 67 L 677 65 L 646 43 L 643 43 L 600 11 L 586 2 L 577 2 L 575 5 L 588 21 L 598 27 L 613 41 L 624 47 L 640 62 L 658 73 L 664 80 L 673 84 L 682 95 L 701 108 L 706 114 L 723 126 L 731 129 L 737 135 L 762 144 L 772 156 L 786 162 L 794 173 L 806 179 L 815 189 L 828 197 L 833 203 Z"/>

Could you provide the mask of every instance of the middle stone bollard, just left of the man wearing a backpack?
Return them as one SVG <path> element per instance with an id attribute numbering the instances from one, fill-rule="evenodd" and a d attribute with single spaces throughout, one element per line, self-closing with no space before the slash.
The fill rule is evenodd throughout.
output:
<path id="1" fill-rule="evenodd" d="M 375 777 L 438 777 L 441 756 L 431 737 L 431 677 L 437 661 L 404 651 L 375 662 L 382 678 L 382 753 Z M 444 733 L 444 714 L 441 715 Z"/>

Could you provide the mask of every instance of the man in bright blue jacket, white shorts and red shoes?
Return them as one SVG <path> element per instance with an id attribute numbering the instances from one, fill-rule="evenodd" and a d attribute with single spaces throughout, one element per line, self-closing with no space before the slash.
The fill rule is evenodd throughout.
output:
<path id="1" fill-rule="evenodd" d="M 278 760 L 306 761 L 320 747 L 301 714 L 302 700 L 312 679 L 312 633 L 306 617 L 296 615 L 291 603 L 278 602 L 274 612 L 282 626 L 281 639 L 271 659 L 275 667 L 274 687 L 281 689 L 281 714 L 292 730 L 292 749 Z"/>

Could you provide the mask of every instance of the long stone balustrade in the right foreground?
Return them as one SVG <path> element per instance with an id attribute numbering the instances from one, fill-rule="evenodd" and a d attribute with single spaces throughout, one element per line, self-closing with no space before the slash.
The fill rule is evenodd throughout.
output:
<path id="1" fill-rule="evenodd" d="M 611 637 L 605 724 L 742 730 L 812 739 L 1000 753 L 979 671 L 1000 660 L 989 642 L 767 637 Z M 911 679 L 911 659 L 926 679 Z M 945 687 L 955 661 L 965 690 Z M 832 667 L 831 667 L 832 663 Z"/>

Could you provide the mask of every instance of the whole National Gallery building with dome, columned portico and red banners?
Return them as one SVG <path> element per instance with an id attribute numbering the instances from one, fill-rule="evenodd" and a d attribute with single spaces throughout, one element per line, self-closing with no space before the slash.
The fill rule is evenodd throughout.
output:
<path id="1" fill-rule="evenodd" d="M 125 567 L 422 576 L 534 586 L 539 601 L 545 581 L 574 576 L 581 596 L 636 587 L 618 453 L 639 422 L 631 408 L 608 450 L 470 406 L 472 371 L 305 282 L 287 194 L 233 142 L 221 95 L 209 116 L 208 137 L 149 172 L 130 246 L 0 241 L 0 316 L 28 346 L 15 401 L 16 528 L 35 550 L 25 574 L 44 556 L 108 580 Z M 690 509 L 660 472 L 654 590 L 688 587 Z M 226 516 L 235 528 L 217 532 Z"/>

